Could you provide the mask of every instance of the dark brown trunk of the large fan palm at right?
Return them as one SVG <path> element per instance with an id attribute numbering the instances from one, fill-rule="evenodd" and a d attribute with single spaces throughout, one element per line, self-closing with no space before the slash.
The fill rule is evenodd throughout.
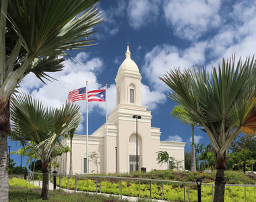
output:
<path id="1" fill-rule="evenodd" d="M 214 193 L 214 202 L 224 202 L 224 193 L 225 193 L 225 178 L 224 171 L 226 168 L 226 154 L 216 158 L 216 180 L 215 180 L 215 193 Z"/>

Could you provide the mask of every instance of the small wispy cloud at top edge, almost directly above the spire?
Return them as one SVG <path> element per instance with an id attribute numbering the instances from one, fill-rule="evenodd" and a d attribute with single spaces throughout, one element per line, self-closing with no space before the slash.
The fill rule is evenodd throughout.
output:
<path id="1" fill-rule="evenodd" d="M 159 3 L 159 0 L 130 0 L 127 7 L 130 26 L 139 29 L 155 22 L 159 15 Z"/>

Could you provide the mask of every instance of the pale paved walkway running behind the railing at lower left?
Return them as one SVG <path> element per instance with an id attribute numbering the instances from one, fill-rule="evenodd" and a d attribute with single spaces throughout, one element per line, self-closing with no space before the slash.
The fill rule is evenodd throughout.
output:
<path id="1" fill-rule="evenodd" d="M 31 184 L 33 184 L 33 181 L 30 181 Z M 42 181 L 38 181 L 38 180 L 34 180 L 34 186 L 37 187 L 42 187 Z M 57 189 L 59 189 L 59 187 L 57 187 Z M 67 192 L 67 193 L 73 193 L 75 192 L 74 190 L 70 190 L 70 189 L 63 189 L 61 188 L 63 191 Z M 53 190 L 53 183 L 49 182 L 49 190 Z M 87 191 L 76 191 L 77 193 L 87 193 Z M 94 192 L 89 192 L 90 194 L 96 195 L 96 193 Z M 119 195 L 110 195 L 110 194 L 105 194 L 105 193 L 97 193 L 100 195 L 105 195 L 105 196 L 114 196 L 114 197 L 119 197 Z M 127 197 L 127 196 L 122 196 L 122 199 L 128 199 L 129 201 L 137 201 L 137 197 Z M 148 201 L 151 201 L 150 199 Z M 162 200 L 152 200 L 155 202 L 165 202 Z"/>

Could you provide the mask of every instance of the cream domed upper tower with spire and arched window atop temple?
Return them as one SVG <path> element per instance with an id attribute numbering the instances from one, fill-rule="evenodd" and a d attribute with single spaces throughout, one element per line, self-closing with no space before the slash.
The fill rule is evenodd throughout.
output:
<path id="1" fill-rule="evenodd" d="M 141 105 L 141 74 L 136 63 L 131 59 L 129 44 L 125 53 L 125 60 L 119 67 L 117 77 L 117 105 Z"/>

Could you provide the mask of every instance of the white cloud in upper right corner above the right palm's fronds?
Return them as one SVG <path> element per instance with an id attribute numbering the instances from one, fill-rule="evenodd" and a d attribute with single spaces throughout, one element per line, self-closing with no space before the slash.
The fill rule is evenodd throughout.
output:
<path id="1" fill-rule="evenodd" d="M 246 11 L 246 12 L 245 12 Z M 216 36 L 207 43 L 207 51 L 214 58 L 211 65 L 218 65 L 222 57 L 242 57 L 243 61 L 249 55 L 256 53 L 256 1 L 238 1 L 229 14 L 230 21 L 222 26 Z M 210 66 L 211 66 L 210 65 Z"/>

